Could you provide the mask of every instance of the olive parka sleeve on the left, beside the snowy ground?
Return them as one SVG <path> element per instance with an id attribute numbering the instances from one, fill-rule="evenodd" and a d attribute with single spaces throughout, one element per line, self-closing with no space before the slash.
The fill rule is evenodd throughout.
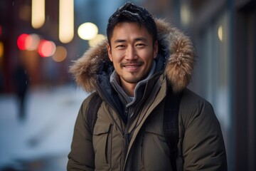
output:
<path id="1" fill-rule="evenodd" d="M 85 113 L 89 101 L 90 97 L 82 103 L 75 121 L 71 151 L 68 155 L 68 171 L 94 170 L 95 168 L 92 135 L 87 125 Z"/>

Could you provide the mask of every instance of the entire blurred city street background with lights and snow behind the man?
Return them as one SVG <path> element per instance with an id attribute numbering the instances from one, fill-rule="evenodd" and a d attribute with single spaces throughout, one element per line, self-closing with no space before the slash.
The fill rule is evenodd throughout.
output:
<path id="1" fill-rule="evenodd" d="M 127 1 L 191 39 L 196 63 L 188 88 L 215 110 L 228 170 L 255 171 L 253 0 L 0 0 L 0 171 L 66 170 L 75 119 L 87 97 L 70 84 L 68 66 L 106 38 L 110 16 Z M 23 93 L 24 119 L 16 98 L 22 102 Z"/>

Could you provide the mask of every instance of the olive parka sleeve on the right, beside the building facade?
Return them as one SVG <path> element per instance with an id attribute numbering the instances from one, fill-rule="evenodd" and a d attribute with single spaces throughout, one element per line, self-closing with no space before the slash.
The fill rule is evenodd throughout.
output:
<path id="1" fill-rule="evenodd" d="M 223 135 L 212 105 L 201 98 L 191 111 L 183 118 L 183 170 L 228 170 Z"/>

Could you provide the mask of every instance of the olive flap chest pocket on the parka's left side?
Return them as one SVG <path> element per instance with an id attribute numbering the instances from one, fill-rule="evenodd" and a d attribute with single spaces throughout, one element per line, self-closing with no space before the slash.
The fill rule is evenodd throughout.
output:
<path id="1" fill-rule="evenodd" d="M 112 123 L 97 122 L 93 130 L 92 144 L 95 150 L 95 170 L 111 167 Z"/>

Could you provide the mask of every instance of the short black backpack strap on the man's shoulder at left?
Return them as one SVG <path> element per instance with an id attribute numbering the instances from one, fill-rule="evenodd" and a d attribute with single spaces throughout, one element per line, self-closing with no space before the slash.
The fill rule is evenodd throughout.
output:
<path id="1" fill-rule="evenodd" d="M 91 134 L 93 133 L 93 128 L 97 120 L 97 111 L 99 110 L 101 103 L 102 98 L 100 98 L 100 96 L 97 93 L 95 93 L 95 95 L 92 96 L 92 99 L 90 100 L 87 106 L 87 122 Z"/>

